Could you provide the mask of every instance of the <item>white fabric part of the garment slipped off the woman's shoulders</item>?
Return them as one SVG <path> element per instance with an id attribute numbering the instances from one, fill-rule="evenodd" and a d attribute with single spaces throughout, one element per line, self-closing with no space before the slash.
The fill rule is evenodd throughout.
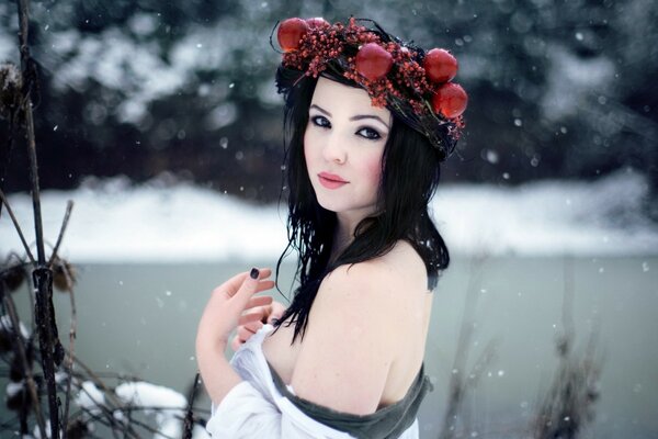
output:
<path id="1" fill-rule="evenodd" d="M 213 439 L 349 439 L 353 436 L 336 430 L 299 410 L 274 385 L 262 351 L 262 342 L 274 327 L 264 325 L 240 347 L 230 360 L 242 378 L 218 406 L 213 406 L 206 425 Z M 294 394 L 292 386 L 287 389 Z M 418 419 L 399 439 L 418 439 Z"/>

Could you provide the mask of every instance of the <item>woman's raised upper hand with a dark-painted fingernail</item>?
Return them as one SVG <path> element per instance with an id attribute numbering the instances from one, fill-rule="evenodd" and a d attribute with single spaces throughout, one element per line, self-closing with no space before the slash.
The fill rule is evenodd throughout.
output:
<path id="1" fill-rule="evenodd" d="M 260 312 L 245 312 L 270 306 L 272 297 L 253 295 L 274 286 L 274 281 L 266 279 L 271 273 L 272 270 L 269 269 L 252 269 L 251 272 L 232 277 L 213 290 L 198 323 L 197 346 L 226 347 L 230 333 L 237 326 L 260 322 Z"/>

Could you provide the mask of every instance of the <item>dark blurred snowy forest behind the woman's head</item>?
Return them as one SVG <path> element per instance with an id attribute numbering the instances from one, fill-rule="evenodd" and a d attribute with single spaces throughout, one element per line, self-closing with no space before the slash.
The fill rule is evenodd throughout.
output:
<path id="1" fill-rule="evenodd" d="M 658 217 L 654 0 L 47 0 L 31 9 L 44 189 L 170 172 L 276 200 L 282 104 L 272 29 L 290 16 L 353 14 L 460 60 L 467 127 L 444 181 L 513 185 L 631 167 L 647 175 L 647 212 Z M 16 34 L 16 7 L 2 2 L 0 61 L 19 64 Z M 1 185 L 27 190 L 24 148 L 10 162 L 2 144 Z"/>

